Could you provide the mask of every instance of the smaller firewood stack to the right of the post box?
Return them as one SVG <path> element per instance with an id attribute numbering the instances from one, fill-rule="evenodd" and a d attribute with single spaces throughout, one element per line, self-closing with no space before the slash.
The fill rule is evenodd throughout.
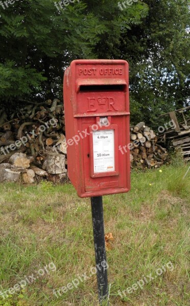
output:
<path id="1" fill-rule="evenodd" d="M 157 168 L 169 162 L 167 149 L 157 143 L 156 134 L 145 122 L 130 127 L 130 139 L 131 167 Z"/>

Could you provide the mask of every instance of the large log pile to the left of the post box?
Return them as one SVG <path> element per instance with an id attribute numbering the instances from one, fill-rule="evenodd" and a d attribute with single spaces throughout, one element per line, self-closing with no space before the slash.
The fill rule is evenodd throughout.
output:
<path id="1" fill-rule="evenodd" d="M 0 182 L 57 182 L 66 176 L 64 111 L 58 99 L 0 109 Z"/>

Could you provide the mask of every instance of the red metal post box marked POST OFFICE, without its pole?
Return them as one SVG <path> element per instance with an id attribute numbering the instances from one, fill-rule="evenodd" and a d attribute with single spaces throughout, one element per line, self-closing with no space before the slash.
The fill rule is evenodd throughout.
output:
<path id="1" fill-rule="evenodd" d="M 68 176 L 80 197 L 130 190 L 129 67 L 76 60 L 64 73 Z"/>

